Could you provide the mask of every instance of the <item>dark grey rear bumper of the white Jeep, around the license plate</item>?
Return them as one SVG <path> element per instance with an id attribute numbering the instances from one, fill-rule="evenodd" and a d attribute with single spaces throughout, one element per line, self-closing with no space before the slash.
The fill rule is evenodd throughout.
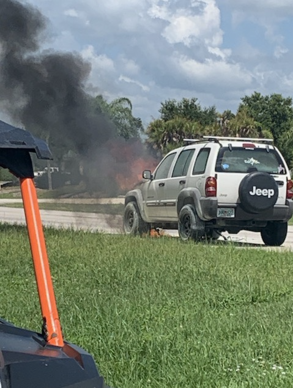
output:
<path id="1" fill-rule="evenodd" d="M 201 198 L 200 205 L 202 209 L 203 218 L 206 220 L 223 221 L 228 223 L 235 223 L 239 221 L 283 221 L 290 220 L 293 215 L 293 200 L 287 199 L 285 205 L 275 205 L 269 210 L 261 213 L 248 213 L 241 208 L 240 204 L 219 204 L 217 198 Z M 235 208 L 234 218 L 217 218 L 217 208 Z"/>

